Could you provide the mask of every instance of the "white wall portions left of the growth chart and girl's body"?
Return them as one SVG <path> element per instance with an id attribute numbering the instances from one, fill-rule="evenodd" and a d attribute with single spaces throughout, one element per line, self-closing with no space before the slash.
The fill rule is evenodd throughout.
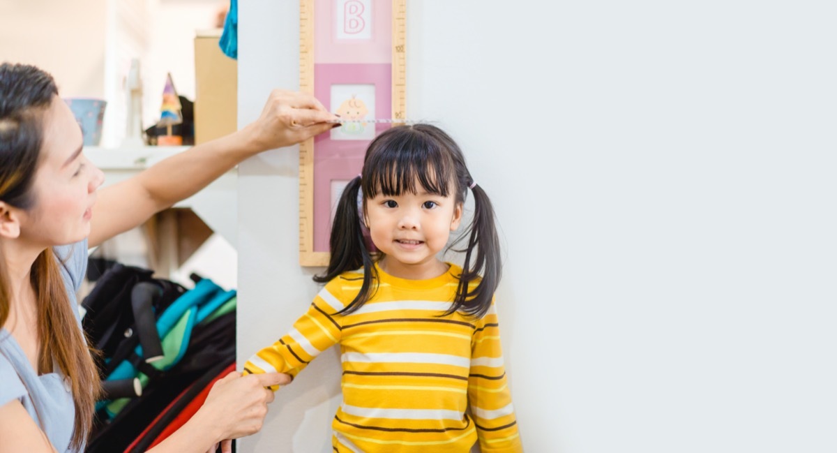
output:
<path id="1" fill-rule="evenodd" d="M 239 125 L 254 121 L 275 88 L 299 86 L 299 3 L 239 2 Z M 300 268 L 298 148 L 239 165 L 238 363 L 275 342 L 311 304 L 312 270 Z M 331 450 L 331 417 L 340 401 L 332 349 L 279 392 L 264 429 L 239 451 Z"/>

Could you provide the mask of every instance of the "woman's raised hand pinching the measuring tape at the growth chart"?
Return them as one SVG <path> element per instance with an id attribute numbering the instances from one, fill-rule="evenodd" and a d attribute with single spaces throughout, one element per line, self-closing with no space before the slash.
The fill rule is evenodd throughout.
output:
<path id="1" fill-rule="evenodd" d="M 290 147 L 337 126 L 336 120 L 314 96 L 298 91 L 273 90 L 259 119 L 247 131 L 259 151 Z"/>

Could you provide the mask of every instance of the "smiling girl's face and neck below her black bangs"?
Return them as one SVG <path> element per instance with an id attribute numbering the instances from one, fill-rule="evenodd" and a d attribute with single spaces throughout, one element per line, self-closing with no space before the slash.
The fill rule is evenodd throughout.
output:
<path id="1" fill-rule="evenodd" d="M 462 204 L 453 196 L 419 193 L 368 198 L 364 220 L 372 242 L 383 252 L 381 266 L 388 274 L 424 280 L 444 273 L 436 254 L 448 244 L 450 232 L 460 226 Z"/>

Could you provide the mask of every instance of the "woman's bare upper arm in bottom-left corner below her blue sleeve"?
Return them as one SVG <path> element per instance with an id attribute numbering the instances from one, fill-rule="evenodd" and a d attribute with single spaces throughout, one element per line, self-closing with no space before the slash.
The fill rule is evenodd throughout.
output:
<path id="1" fill-rule="evenodd" d="M 55 451 L 47 435 L 40 430 L 18 399 L 0 406 L 0 439 L 3 439 L 0 442 L 0 453 Z"/>

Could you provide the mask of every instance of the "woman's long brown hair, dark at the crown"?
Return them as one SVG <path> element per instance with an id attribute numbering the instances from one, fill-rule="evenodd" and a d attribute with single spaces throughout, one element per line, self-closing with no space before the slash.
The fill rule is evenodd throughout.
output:
<path id="1" fill-rule="evenodd" d="M 43 116 L 57 95 L 52 76 L 43 70 L 23 64 L 0 64 L 0 200 L 4 203 L 24 210 L 37 203 L 32 185 L 42 160 Z M 81 450 L 93 423 L 100 382 L 88 342 L 73 312 L 76 307 L 70 305 L 60 265 L 59 257 L 47 248 L 30 270 L 41 342 L 38 372 L 52 368 L 54 359 L 69 378 L 75 403 L 70 449 Z M 9 316 L 8 279 L 6 258 L 0 256 L 0 326 Z"/>

